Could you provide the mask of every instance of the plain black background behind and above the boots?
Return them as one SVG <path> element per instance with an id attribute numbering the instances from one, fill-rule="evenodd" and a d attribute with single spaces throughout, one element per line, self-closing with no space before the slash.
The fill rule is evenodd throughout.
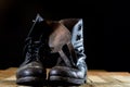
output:
<path id="1" fill-rule="evenodd" d="M 88 69 L 130 72 L 129 2 L 69 1 L 0 0 L 0 69 L 24 61 L 24 39 L 40 13 L 49 20 L 83 18 Z"/>

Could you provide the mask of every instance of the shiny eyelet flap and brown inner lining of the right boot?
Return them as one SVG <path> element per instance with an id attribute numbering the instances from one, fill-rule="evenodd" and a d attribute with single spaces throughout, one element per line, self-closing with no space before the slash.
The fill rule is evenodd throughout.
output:
<path id="1" fill-rule="evenodd" d="M 61 20 L 60 23 L 64 24 L 72 34 L 72 44 L 76 52 L 77 59 L 73 59 L 76 63 L 76 66 L 84 67 L 86 65 L 86 58 L 84 54 L 84 47 L 83 47 L 83 21 L 82 18 L 65 18 Z"/>

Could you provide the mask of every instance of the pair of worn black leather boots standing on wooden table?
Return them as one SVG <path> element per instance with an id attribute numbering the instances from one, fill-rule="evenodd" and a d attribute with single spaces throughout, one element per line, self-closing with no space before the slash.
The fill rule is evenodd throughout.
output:
<path id="1" fill-rule="evenodd" d="M 47 21 L 39 14 L 26 38 L 25 61 L 16 72 L 18 85 L 82 85 L 87 78 L 82 18 Z M 57 58 L 47 75 L 46 59 Z M 51 63 L 51 62 L 50 62 Z M 48 76 L 48 77 L 47 77 Z"/>

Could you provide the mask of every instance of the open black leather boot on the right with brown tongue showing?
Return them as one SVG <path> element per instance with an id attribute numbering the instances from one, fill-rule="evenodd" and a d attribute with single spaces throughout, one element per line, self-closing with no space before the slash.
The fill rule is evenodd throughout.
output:
<path id="1" fill-rule="evenodd" d="M 52 85 L 82 85 L 87 78 L 87 64 L 83 48 L 83 26 L 81 18 L 67 18 L 58 22 L 64 30 L 55 36 L 61 36 L 61 40 L 50 41 L 52 52 L 58 51 L 57 64 L 50 70 L 49 80 Z M 55 39 L 54 35 L 53 39 Z M 51 38 L 51 36 L 50 36 Z M 54 42 L 54 44 L 55 44 Z M 60 42 L 60 44 L 58 44 Z M 63 44 L 64 42 L 64 44 Z M 63 44 L 63 45 L 62 45 Z M 56 49 L 61 48 L 61 49 Z M 54 51 L 56 49 L 56 51 Z"/>

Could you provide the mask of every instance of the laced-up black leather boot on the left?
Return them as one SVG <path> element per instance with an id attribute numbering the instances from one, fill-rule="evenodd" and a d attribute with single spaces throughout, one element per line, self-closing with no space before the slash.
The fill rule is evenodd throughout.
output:
<path id="1" fill-rule="evenodd" d="M 18 85 L 39 85 L 43 84 L 47 78 L 46 69 L 42 64 L 41 41 L 42 35 L 40 34 L 40 23 L 43 21 L 38 14 L 35 23 L 26 38 L 24 48 L 25 61 L 16 72 L 16 84 Z M 39 30 L 39 32 L 38 32 Z"/>

